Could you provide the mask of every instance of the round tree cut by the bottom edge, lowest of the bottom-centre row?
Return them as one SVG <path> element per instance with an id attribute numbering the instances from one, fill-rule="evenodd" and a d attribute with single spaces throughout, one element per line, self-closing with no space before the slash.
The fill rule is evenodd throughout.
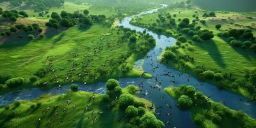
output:
<path id="1" fill-rule="evenodd" d="M 163 122 L 157 120 L 156 116 L 151 113 L 146 113 L 140 118 L 141 128 L 164 128 Z"/>

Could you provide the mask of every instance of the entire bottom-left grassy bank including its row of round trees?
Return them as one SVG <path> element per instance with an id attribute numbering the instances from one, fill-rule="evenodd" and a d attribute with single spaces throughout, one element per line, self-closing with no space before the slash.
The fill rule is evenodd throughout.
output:
<path id="1" fill-rule="evenodd" d="M 116 80 L 110 79 L 108 84 L 110 81 Z M 112 86 L 120 88 L 118 83 Z M 135 86 L 129 88 L 138 90 Z M 152 114 L 154 109 L 147 108 L 152 103 L 128 93 L 129 88 L 120 88 L 120 97 L 112 97 L 110 93 L 67 92 L 17 101 L 0 109 L 0 124 L 1 127 L 164 127 Z M 129 106 L 120 109 L 121 104 Z"/>

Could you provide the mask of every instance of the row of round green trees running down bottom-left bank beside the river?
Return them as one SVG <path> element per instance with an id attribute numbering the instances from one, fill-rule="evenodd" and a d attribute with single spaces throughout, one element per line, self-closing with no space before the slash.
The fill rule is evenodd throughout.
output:
<path id="1" fill-rule="evenodd" d="M 134 99 L 134 96 L 129 93 L 123 93 L 118 81 L 109 79 L 106 87 L 108 92 L 102 97 L 102 100 L 108 103 L 117 100 L 118 108 L 120 111 L 124 111 L 125 116 L 129 119 L 129 123 L 125 127 L 164 127 L 163 122 L 147 112 L 144 102 Z"/>

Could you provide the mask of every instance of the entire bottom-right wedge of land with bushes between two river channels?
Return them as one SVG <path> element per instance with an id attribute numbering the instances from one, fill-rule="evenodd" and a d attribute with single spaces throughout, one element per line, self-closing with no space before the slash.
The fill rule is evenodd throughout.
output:
<path id="1" fill-rule="evenodd" d="M 234 111 L 219 102 L 214 102 L 193 86 L 164 88 L 164 91 L 178 100 L 180 109 L 191 111 L 191 119 L 200 127 L 254 127 L 256 120 L 243 111 Z"/>

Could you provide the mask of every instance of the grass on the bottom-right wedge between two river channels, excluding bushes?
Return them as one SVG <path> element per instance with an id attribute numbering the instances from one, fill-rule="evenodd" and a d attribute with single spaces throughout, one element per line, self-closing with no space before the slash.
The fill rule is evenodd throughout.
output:
<path id="1" fill-rule="evenodd" d="M 185 95 L 182 91 L 180 91 L 179 87 L 164 88 L 164 92 L 177 100 L 180 98 L 180 95 Z M 204 95 L 203 97 L 204 99 L 207 99 Z M 197 101 L 199 101 L 199 99 L 197 99 Z M 191 111 L 191 119 L 199 127 L 254 127 L 256 125 L 255 119 L 241 111 L 234 111 L 227 108 L 220 102 L 214 102 L 210 99 L 204 104 L 199 105 L 199 103 L 196 103 L 197 101 L 193 99 L 193 104 L 188 111 Z"/>

